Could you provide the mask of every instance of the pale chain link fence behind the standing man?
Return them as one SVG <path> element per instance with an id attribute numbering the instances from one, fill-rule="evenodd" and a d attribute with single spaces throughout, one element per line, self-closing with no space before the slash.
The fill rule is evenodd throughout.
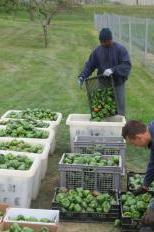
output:
<path id="1" fill-rule="evenodd" d="M 98 32 L 109 27 L 114 40 L 125 45 L 132 58 L 154 72 L 154 19 L 95 14 L 94 21 Z"/>

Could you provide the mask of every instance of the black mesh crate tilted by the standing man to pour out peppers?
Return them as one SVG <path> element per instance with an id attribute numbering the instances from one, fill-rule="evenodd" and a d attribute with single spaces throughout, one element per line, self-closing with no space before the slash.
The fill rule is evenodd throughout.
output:
<path id="1" fill-rule="evenodd" d="M 91 118 L 93 119 L 93 109 L 92 109 L 92 99 L 93 95 L 98 91 L 102 90 L 105 91 L 107 89 L 111 89 L 111 98 L 116 104 L 116 112 L 113 114 L 111 113 L 110 115 L 107 115 L 105 117 L 110 117 L 114 116 L 117 113 L 117 102 L 116 102 L 116 97 L 115 97 L 115 91 L 114 91 L 114 83 L 113 83 L 113 77 L 104 77 L 103 75 L 98 75 L 95 77 L 87 78 L 85 81 L 86 85 L 86 90 L 87 90 L 87 97 L 88 97 L 88 102 L 89 102 L 89 107 L 90 107 L 90 112 L 91 112 Z M 101 118 L 103 120 L 103 117 Z"/>

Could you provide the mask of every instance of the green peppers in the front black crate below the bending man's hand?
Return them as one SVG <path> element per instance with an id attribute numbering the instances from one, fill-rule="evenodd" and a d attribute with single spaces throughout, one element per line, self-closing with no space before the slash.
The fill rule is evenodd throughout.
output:
<path id="1" fill-rule="evenodd" d="M 150 203 L 151 195 L 145 193 L 134 196 L 133 193 L 127 192 L 121 196 L 121 200 L 122 216 L 130 217 L 132 219 L 141 219 Z"/>

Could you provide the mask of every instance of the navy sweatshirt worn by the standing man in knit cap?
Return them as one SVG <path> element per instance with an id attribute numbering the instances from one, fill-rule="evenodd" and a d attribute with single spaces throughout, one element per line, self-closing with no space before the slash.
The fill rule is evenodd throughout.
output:
<path id="1" fill-rule="evenodd" d="M 131 70 L 131 62 L 129 54 L 123 45 L 113 42 L 110 47 L 98 46 L 90 54 L 80 76 L 85 80 L 95 69 L 97 69 L 99 75 L 103 74 L 105 69 L 108 68 L 113 70 L 115 85 L 121 85 L 127 80 Z"/>

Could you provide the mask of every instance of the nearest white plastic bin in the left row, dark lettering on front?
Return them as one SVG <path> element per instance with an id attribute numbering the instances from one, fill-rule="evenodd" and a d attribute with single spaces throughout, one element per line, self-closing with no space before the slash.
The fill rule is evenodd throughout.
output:
<path id="1" fill-rule="evenodd" d="M 3 153 L 6 155 L 7 153 Z M 12 153 L 16 155 L 15 153 Z M 26 153 L 24 154 L 26 155 Z M 39 158 L 31 158 L 33 164 L 29 170 L 0 169 L 0 202 L 15 207 L 30 207 L 34 188 L 38 185 Z"/>

